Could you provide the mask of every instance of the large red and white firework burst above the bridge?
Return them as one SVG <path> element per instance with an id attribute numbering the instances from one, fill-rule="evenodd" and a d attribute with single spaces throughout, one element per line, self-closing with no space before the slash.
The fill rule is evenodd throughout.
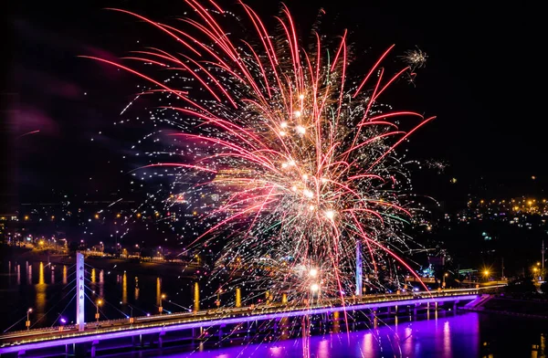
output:
<path id="1" fill-rule="evenodd" d="M 334 47 L 314 32 L 304 50 L 287 7 L 275 17 L 281 35 L 273 37 L 241 4 L 257 35 L 248 42 L 221 26 L 234 16 L 219 5 L 186 3 L 194 16 L 182 19 L 184 28 L 116 10 L 178 42 L 178 52 L 147 47 L 128 59 L 180 73 L 184 88 L 94 59 L 146 79 L 152 87 L 141 95 L 168 99 L 155 111 L 181 130 L 170 137 L 182 146 L 165 151 L 181 159 L 147 166 L 165 167 L 177 183 L 193 176 L 197 183 L 189 191 L 218 198 L 188 247 L 220 247 L 216 274 L 229 274 L 227 284 L 296 304 L 361 294 L 355 289 L 359 257 L 370 287 L 397 288 L 398 268 L 415 274 L 398 256 L 407 249 L 403 232 L 416 211 L 395 149 L 434 117 L 392 111 L 380 98 L 424 61 L 409 54 L 414 62 L 389 75 L 381 67 L 389 47 L 353 81 L 346 32 Z M 400 118 L 415 124 L 401 129 Z M 174 187 L 166 205 L 188 195 Z"/>

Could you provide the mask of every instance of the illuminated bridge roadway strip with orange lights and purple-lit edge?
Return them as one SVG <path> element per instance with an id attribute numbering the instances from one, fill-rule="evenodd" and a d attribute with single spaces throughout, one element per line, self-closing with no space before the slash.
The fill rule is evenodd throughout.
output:
<path id="1" fill-rule="evenodd" d="M 502 285 L 501 285 L 502 286 Z M 498 286 L 499 287 L 499 286 Z M 220 308 L 196 312 L 171 313 L 129 319 L 86 323 L 79 332 L 76 326 L 9 332 L 0 335 L 0 354 L 37 350 L 83 342 L 99 342 L 141 334 L 174 332 L 222 324 L 238 324 L 248 321 L 266 321 L 284 317 L 298 317 L 333 311 L 361 311 L 384 307 L 418 305 L 422 303 L 475 300 L 484 290 L 480 289 L 441 290 L 410 292 L 405 294 L 366 295 L 361 299 L 321 300 L 308 306 L 290 306 L 281 303 L 259 305 L 255 308 Z"/>

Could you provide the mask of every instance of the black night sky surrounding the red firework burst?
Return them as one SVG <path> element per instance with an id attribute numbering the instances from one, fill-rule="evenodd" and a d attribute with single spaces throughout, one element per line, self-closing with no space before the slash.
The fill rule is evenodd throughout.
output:
<path id="1" fill-rule="evenodd" d="M 385 99 L 437 115 L 407 145 L 414 157 L 448 163 L 446 174 L 421 178 L 420 190 L 442 200 L 453 195 L 464 201 L 463 195 L 480 183 L 498 187 L 492 195 L 529 194 L 542 188 L 548 183 L 542 8 L 532 2 L 420 3 L 338 0 L 288 1 L 287 5 L 304 34 L 323 7 L 334 19 L 330 31 L 340 28 L 342 33 L 348 27 L 356 48 L 380 54 L 396 44 L 395 54 L 415 46 L 427 52 L 427 67 L 418 73 L 416 87 L 398 85 L 404 90 Z M 248 4 L 263 16 L 278 15 L 277 1 Z M 135 133 L 116 138 L 109 133 L 138 81 L 77 56 L 115 58 L 156 38 L 160 44 L 167 41 L 152 28 L 103 7 L 169 21 L 183 15 L 184 2 L 101 0 L 10 6 L 2 21 L 7 26 L 3 31 L 7 51 L 3 51 L 1 78 L 5 111 L 0 114 L 4 169 L 0 189 L 5 196 L 0 200 L 16 200 L 10 196 L 16 192 L 26 200 L 61 187 L 76 193 L 113 191 L 124 183 L 120 170 L 132 169 L 121 167 L 120 157 Z M 17 111 L 6 111 L 14 108 Z M 36 130 L 40 132 L 20 137 Z M 106 134 L 98 136 L 100 131 Z M 96 141 L 90 142 L 94 137 Z M 458 184 L 449 185 L 451 177 Z"/>

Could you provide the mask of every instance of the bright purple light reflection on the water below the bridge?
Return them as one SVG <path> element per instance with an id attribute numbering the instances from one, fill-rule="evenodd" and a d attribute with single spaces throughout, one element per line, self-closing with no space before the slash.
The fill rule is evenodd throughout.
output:
<path id="1" fill-rule="evenodd" d="M 311 358 L 478 357 L 479 316 L 467 313 L 430 321 L 406 321 L 377 330 L 310 338 Z M 301 357 L 302 339 L 244 344 L 203 352 L 163 354 L 192 358 Z"/>

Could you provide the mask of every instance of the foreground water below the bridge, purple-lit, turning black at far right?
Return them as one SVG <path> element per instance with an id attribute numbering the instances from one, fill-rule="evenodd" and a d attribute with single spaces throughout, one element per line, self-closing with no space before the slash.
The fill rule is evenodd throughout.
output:
<path id="1" fill-rule="evenodd" d="M 188 358 L 500 358 L 546 357 L 545 321 L 523 321 L 508 316 L 474 312 L 442 316 L 437 320 L 402 321 L 376 330 L 312 336 L 310 355 L 302 352 L 300 338 L 262 344 L 196 349 L 188 353 L 163 353 L 163 357 Z M 525 328 L 524 324 L 526 325 Z M 532 343 L 534 342 L 534 343 Z M 132 355 L 157 356 L 140 353 Z"/>

